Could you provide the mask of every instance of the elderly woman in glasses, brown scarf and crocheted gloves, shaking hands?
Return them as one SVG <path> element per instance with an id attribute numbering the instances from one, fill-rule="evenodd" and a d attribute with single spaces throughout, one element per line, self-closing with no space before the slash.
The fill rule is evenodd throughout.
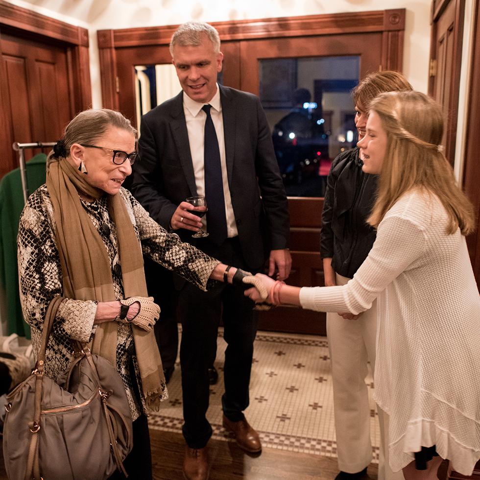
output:
<path id="1" fill-rule="evenodd" d="M 137 159 L 136 133 L 129 120 L 107 109 L 86 110 L 68 124 L 48 156 L 46 184 L 30 196 L 20 219 L 18 264 L 34 351 L 48 305 L 63 298 L 46 373 L 61 382 L 74 340 L 92 342 L 94 353 L 117 366 L 134 420 L 124 467 L 135 478 L 151 479 L 146 412 L 159 408 L 167 389 L 152 331 L 160 309 L 147 295 L 142 255 L 202 289 L 209 278 L 232 283 L 237 269 L 227 273 L 227 265 L 182 243 L 122 188 Z M 111 478 L 123 477 L 117 471 Z"/>

